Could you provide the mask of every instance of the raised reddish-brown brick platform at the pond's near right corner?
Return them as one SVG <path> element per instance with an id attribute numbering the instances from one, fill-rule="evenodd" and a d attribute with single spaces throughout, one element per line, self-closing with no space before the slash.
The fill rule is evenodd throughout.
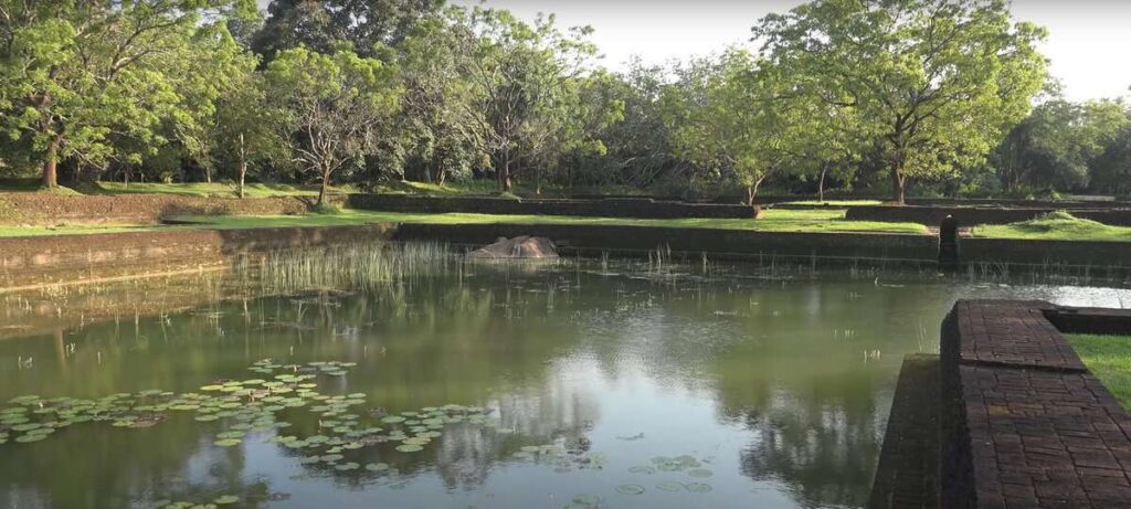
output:
<path id="1" fill-rule="evenodd" d="M 1131 416 L 1051 309 L 959 301 L 943 322 L 942 507 L 1131 507 Z"/>

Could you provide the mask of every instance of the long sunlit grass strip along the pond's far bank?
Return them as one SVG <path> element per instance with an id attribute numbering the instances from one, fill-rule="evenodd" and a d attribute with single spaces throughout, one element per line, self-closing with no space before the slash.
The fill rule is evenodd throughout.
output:
<path id="1" fill-rule="evenodd" d="M 925 234 L 926 227 L 913 223 L 870 223 L 843 221 L 844 210 L 766 210 L 758 219 L 633 219 L 613 217 L 532 216 L 490 214 L 403 214 L 365 210 L 342 210 L 338 214 L 308 214 L 302 216 L 191 216 L 180 219 L 193 224 L 176 226 L 129 226 L 129 225 L 68 225 L 0 226 L 0 236 L 116 233 L 122 231 L 153 231 L 169 228 L 259 228 L 290 226 L 340 226 L 371 223 L 429 223 L 429 224 L 588 224 L 588 225 L 633 225 L 691 228 L 726 228 L 763 232 L 873 232 Z"/>

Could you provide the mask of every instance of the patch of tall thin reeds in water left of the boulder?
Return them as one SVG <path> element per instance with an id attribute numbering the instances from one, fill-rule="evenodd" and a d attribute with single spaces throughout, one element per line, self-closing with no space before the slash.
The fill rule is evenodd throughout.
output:
<path id="1" fill-rule="evenodd" d="M 266 293 L 370 288 L 443 274 L 458 257 L 440 243 L 371 242 L 276 251 L 242 264 Z M 252 279 L 254 277 L 254 279 Z"/>

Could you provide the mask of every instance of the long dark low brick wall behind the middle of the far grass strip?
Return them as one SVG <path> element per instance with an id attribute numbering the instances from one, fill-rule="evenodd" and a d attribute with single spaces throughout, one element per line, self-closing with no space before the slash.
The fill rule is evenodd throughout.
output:
<path id="1" fill-rule="evenodd" d="M 596 216 L 640 218 L 753 218 L 757 209 L 744 205 L 656 201 L 650 198 L 508 199 L 489 197 L 430 197 L 411 195 L 351 195 L 347 205 L 365 210 L 402 213 L 470 213 L 504 215 Z"/>

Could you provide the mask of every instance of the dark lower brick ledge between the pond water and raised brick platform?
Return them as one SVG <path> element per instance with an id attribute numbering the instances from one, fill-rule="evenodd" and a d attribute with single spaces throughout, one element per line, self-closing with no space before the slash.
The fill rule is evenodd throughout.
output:
<path id="1" fill-rule="evenodd" d="M 867 507 L 939 507 L 938 355 L 904 357 Z"/>

